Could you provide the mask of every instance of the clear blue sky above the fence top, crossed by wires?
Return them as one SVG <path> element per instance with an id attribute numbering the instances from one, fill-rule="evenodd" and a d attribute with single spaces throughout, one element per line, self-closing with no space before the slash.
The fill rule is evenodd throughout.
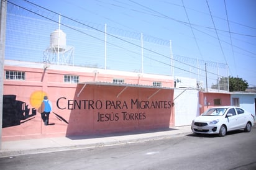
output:
<path id="1" fill-rule="evenodd" d="M 9 1 L 37 9 L 26 1 Z M 227 63 L 229 75 L 256 86 L 254 0 L 29 1 L 91 27 L 107 24 L 171 40 L 173 55 Z"/>

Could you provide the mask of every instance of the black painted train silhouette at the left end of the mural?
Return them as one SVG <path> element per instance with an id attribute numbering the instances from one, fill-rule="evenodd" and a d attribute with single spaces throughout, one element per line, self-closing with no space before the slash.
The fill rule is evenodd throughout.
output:
<path id="1" fill-rule="evenodd" d="M 34 119 L 36 114 L 35 108 L 30 110 L 25 102 L 16 101 L 16 95 L 3 96 L 2 128 L 21 125 L 21 123 Z"/>

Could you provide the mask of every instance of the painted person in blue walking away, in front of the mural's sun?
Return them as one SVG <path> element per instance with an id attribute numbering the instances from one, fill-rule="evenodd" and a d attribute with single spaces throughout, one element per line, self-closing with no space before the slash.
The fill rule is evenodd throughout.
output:
<path id="1" fill-rule="evenodd" d="M 51 111 L 52 111 L 52 102 L 48 100 L 47 96 L 44 96 L 43 102 L 40 105 L 38 112 L 41 113 L 41 117 L 45 126 L 48 125 L 49 123 L 49 115 Z"/>

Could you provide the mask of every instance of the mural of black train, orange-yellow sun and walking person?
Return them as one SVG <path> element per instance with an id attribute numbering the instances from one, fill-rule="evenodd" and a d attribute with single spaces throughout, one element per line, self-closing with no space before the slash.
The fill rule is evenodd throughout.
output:
<path id="1" fill-rule="evenodd" d="M 42 99 L 43 96 L 43 99 Z M 21 125 L 35 119 L 37 113 L 41 114 L 44 125 L 55 125 L 49 123 L 52 112 L 52 102 L 48 100 L 47 94 L 42 91 L 35 91 L 30 96 L 30 105 L 24 101 L 16 100 L 15 94 L 3 95 L 2 105 L 2 128 Z M 47 103 L 48 107 L 45 107 Z M 58 120 L 68 124 L 62 116 L 52 112 Z"/>

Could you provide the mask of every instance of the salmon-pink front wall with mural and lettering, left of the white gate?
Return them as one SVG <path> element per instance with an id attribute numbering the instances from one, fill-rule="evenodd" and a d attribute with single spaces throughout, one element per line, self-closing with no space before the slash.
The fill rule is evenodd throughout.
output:
<path id="1" fill-rule="evenodd" d="M 81 91 L 83 84 L 63 83 L 65 74 L 80 76 L 80 82 L 112 83 L 113 78 L 123 78 L 125 83 L 150 86 L 161 81 L 165 87 L 173 86 L 171 79 L 8 65 L 4 69 L 25 71 L 25 81 L 4 79 L 3 141 L 174 126 L 172 89 L 157 92 L 154 88 L 127 87 L 118 96 L 123 86 L 86 85 Z M 43 96 L 48 96 L 53 105 L 47 126 L 37 112 Z"/>

